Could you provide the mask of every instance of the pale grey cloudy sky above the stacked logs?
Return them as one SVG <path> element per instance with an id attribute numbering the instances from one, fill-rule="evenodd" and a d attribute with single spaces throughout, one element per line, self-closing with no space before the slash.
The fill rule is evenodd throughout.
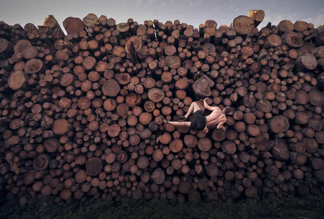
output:
<path id="1" fill-rule="evenodd" d="M 315 27 L 324 22 L 324 0 L 0 0 L 0 21 L 10 25 L 26 23 L 42 25 L 48 15 L 54 15 L 60 23 L 66 17 L 83 19 L 88 13 L 98 17 L 105 15 L 114 18 L 117 23 L 133 18 L 139 24 L 145 20 L 158 19 L 159 22 L 179 20 L 194 27 L 206 20 L 215 20 L 218 26 L 229 25 L 239 15 L 247 15 L 251 9 L 262 9 L 265 18 L 258 26 L 270 21 L 277 25 L 281 20 L 304 20 Z"/>

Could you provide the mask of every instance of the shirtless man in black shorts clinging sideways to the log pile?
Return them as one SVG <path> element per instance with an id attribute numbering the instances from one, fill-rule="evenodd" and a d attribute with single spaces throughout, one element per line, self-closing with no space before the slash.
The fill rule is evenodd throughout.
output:
<path id="1" fill-rule="evenodd" d="M 207 99 L 207 98 L 206 98 Z M 208 128 L 210 126 L 215 126 L 218 124 L 217 129 L 223 129 L 226 131 L 226 128 L 223 126 L 226 123 L 226 115 L 229 114 L 232 109 L 230 106 L 220 109 L 217 106 L 210 106 L 207 104 L 206 99 L 204 99 L 204 107 L 209 111 L 212 111 L 209 116 L 202 115 L 199 106 L 197 103 L 191 103 L 188 112 L 185 116 L 179 116 L 180 119 L 187 120 L 190 114 L 193 113 L 195 121 L 193 122 L 171 122 L 162 118 L 162 122 L 169 123 L 174 126 L 186 126 L 190 127 L 191 130 L 204 130 L 204 135 L 208 133 Z"/>

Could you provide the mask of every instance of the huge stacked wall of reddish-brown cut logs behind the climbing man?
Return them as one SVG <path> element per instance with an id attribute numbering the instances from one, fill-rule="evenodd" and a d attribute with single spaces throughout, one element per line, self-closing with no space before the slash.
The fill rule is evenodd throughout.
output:
<path id="1" fill-rule="evenodd" d="M 55 202 L 324 193 L 324 33 L 88 14 L 0 22 L 0 192 Z M 193 101 L 227 132 L 163 124 Z M 208 114 L 208 112 L 205 112 Z M 192 121 L 192 118 L 189 118 Z"/>

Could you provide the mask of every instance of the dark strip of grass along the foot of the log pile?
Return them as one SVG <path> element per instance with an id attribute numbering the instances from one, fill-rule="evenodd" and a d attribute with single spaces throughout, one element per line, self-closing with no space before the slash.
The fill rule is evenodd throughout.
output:
<path id="1" fill-rule="evenodd" d="M 53 202 L 50 202 L 53 203 Z M 147 202 L 127 200 L 121 203 L 101 202 L 80 208 L 80 203 L 70 205 L 45 204 L 33 202 L 28 206 L 18 206 L 10 201 L 0 208 L 0 218 L 36 219 L 36 218 L 324 218 L 324 200 L 311 201 L 301 198 L 284 197 L 257 200 L 242 200 L 237 203 L 218 201 L 213 204 L 178 204 L 168 201 L 151 200 Z"/>

